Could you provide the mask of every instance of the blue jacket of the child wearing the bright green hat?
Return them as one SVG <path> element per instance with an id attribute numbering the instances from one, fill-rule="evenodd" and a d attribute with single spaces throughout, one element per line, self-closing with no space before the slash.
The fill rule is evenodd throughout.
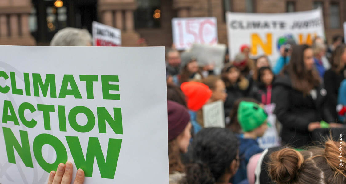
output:
<path id="1" fill-rule="evenodd" d="M 258 143 L 255 139 L 239 138 L 239 159 L 240 164 L 237 173 L 233 176 L 233 184 L 238 184 L 241 181 L 245 180 L 246 177 L 246 166 L 249 162 L 249 159 L 257 154 L 263 152 L 263 149 L 258 146 Z"/>

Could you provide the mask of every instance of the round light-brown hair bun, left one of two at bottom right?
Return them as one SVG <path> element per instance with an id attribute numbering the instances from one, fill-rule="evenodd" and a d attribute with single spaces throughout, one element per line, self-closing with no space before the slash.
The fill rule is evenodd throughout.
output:
<path id="1" fill-rule="evenodd" d="M 304 162 L 303 155 L 291 148 L 272 153 L 270 159 L 269 175 L 278 184 L 292 183 Z"/>

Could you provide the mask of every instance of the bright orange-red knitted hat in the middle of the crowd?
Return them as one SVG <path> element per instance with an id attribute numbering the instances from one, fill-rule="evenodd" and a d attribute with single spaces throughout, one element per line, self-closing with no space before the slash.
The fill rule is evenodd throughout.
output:
<path id="1" fill-rule="evenodd" d="M 207 85 L 194 81 L 183 83 L 180 88 L 186 96 L 188 108 L 193 111 L 201 109 L 212 93 Z"/>

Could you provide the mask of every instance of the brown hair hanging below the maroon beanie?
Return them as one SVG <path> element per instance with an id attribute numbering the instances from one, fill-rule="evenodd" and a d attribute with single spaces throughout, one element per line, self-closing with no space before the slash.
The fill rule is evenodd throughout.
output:
<path id="1" fill-rule="evenodd" d="M 169 174 L 173 171 L 184 172 L 184 165 L 180 159 L 180 150 L 176 139 L 168 142 L 168 164 L 169 164 Z"/>

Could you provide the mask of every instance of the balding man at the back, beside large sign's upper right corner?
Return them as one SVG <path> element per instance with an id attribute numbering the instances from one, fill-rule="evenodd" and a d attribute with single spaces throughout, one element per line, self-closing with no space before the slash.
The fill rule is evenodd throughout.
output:
<path id="1" fill-rule="evenodd" d="M 170 49 L 167 52 L 166 69 L 167 69 L 167 72 L 171 76 L 174 77 L 177 74 L 179 74 L 179 72 L 180 72 L 180 63 L 181 63 L 181 59 L 180 59 L 179 52 L 177 50 L 175 50 L 175 49 Z"/>

